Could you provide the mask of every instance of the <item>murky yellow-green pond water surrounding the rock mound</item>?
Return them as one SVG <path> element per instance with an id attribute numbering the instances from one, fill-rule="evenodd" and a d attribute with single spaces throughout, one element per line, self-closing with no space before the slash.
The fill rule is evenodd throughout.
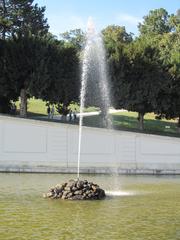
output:
<path id="1" fill-rule="evenodd" d="M 75 177 L 0 174 L 0 239 L 180 239 L 180 177 L 83 175 L 105 190 L 121 191 L 120 196 L 42 198 L 49 187 Z"/>

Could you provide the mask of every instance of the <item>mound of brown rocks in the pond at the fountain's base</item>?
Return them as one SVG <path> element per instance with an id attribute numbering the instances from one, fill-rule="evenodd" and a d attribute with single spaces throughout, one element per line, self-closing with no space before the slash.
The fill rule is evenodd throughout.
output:
<path id="1" fill-rule="evenodd" d="M 69 180 L 69 182 L 51 187 L 49 192 L 43 196 L 53 199 L 100 200 L 104 199 L 106 195 L 105 191 L 97 184 L 87 180 Z"/>

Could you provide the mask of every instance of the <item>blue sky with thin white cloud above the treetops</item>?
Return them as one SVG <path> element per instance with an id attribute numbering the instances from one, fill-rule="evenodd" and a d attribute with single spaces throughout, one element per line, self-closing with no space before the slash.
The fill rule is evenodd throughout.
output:
<path id="1" fill-rule="evenodd" d="M 35 0 L 46 6 L 50 31 L 59 36 L 67 30 L 86 29 L 88 17 L 94 19 L 97 30 L 115 24 L 125 26 L 127 32 L 138 34 L 137 25 L 150 10 L 165 8 L 176 13 L 180 0 Z"/>

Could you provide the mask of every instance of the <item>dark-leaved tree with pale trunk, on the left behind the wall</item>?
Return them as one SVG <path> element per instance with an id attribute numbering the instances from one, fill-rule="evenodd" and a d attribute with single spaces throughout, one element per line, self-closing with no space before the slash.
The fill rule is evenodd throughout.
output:
<path id="1" fill-rule="evenodd" d="M 33 36 L 9 39 L 6 42 L 6 81 L 10 79 L 13 91 L 18 96 L 20 93 L 20 115 L 26 117 L 28 96 L 38 91 L 40 94 L 48 83 L 48 43 Z"/>

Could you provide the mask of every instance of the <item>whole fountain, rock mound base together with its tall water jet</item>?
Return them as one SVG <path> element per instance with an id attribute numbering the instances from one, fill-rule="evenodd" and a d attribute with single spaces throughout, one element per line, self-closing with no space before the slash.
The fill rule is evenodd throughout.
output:
<path id="1" fill-rule="evenodd" d="M 111 128 L 111 120 L 108 115 L 110 98 L 105 55 L 101 34 L 96 33 L 92 18 L 89 18 L 86 43 L 82 53 L 77 180 L 70 180 L 52 187 L 45 197 L 72 200 L 103 199 L 105 197 L 104 190 L 97 184 L 80 180 L 81 138 L 85 104 L 98 105 L 101 109 L 102 126 Z"/>

